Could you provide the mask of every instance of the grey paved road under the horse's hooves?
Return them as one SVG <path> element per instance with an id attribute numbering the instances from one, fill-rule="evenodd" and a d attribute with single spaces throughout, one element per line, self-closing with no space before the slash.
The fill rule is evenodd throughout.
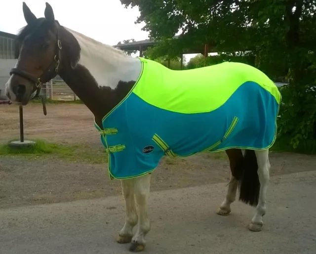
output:
<path id="1" fill-rule="evenodd" d="M 272 178 L 262 232 L 246 228 L 253 208 L 216 214 L 226 191 L 212 184 L 153 192 L 150 254 L 315 254 L 316 171 Z M 0 210 L 0 254 L 124 254 L 121 197 Z"/>

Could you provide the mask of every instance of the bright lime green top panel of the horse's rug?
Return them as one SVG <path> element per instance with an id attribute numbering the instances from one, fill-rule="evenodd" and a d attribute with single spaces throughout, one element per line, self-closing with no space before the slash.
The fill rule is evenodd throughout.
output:
<path id="1" fill-rule="evenodd" d="M 235 62 L 174 71 L 140 58 L 143 73 L 133 92 L 158 108 L 184 114 L 204 113 L 223 105 L 245 82 L 256 82 L 280 102 L 276 85 L 258 69 Z"/>

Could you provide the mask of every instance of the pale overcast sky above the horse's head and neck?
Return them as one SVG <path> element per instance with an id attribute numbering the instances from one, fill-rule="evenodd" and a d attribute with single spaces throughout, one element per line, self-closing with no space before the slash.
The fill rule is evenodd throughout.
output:
<path id="1" fill-rule="evenodd" d="M 138 7 L 124 8 L 119 0 L 24 0 L 37 18 L 44 16 L 45 2 L 53 8 L 55 19 L 97 41 L 109 45 L 128 39 L 148 39 L 142 24 L 134 24 L 140 15 Z M 23 0 L 0 3 L 0 31 L 17 34 L 26 25 Z M 2 5 L 2 6 L 1 6 Z M 196 54 L 186 55 L 187 61 Z"/>

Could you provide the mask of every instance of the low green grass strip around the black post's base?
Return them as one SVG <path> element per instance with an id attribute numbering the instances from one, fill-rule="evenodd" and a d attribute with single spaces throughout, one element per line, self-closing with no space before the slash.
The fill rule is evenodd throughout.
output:
<path id="1" fill-rule="evenodd" d="M 0 156 L 21 156 L 29 159 L 51 158 L 63 159 L 71 162 L 86 162 L 90 164 L 104 164 L 108 155 L 104 149 L 91 149 L 84 145 L 60 145 L 44 140 L 34 140 L 32 147 L 10 148 L 8 144 L 0 145 Z"/>

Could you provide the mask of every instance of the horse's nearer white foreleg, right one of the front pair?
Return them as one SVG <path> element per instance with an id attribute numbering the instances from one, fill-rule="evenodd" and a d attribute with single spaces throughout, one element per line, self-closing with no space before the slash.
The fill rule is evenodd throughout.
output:
<path id="1" fill-rule="evenodd" d="M 150 191 L 151 174 L 135 178 L 135 199 L 138 206 L 138 229 L 132 239 L 131 252 L 141 252 L 145 248 L 145 236 L 151 229 L 151 222 L 148 218 L 148 198 Z"/>

